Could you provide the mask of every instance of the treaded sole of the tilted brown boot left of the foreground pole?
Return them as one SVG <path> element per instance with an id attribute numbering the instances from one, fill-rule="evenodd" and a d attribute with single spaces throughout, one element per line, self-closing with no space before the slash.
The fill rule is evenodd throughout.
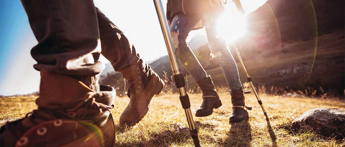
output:
<path id="1" fill-rule="evenodd" d="M 135 124 L 139 123 L 142 118 L 144 118 L 144 116 L 149 111 L 148 105 L 150 104 L 152 97 L 154 95 L 160 94 L 160 92 L 163 91 L 164 85 L 165 84 L 164 84 L 163 80 L 161 80 L 159 78 L 159 84 L 156 86 L 155 90 L 151 93 L 150 98 L 148 99 L 148 101 L 147 101 L 147 103 L 145 105 L 145 109 L 140 112 L 139 116 L 133 120 L 133 122 L 132 122 L 132 124 L 130 126 L 134 126 Z M 148 86 L 150 86 L 150 84 Z"/>

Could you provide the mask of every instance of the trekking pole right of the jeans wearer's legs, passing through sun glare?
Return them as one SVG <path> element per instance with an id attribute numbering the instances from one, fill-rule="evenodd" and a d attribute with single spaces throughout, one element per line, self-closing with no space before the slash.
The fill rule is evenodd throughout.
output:
<path id="1" fill-rule="evenodd" d="M 233 0 L 233 2 L 234 2 L 235 5 L 236 5 L 237 11 L 238 11 L 239 13 L 241 13 L 241 14 L 244 14 L 244 10 L 243 10 L 243 7 L 242 7 L 241 2 L 240 2 L 239 0 Z M 237 55 L 237 57 L 238 57 L 238 60 L 239 60 L 239 62 L 241 63 L 241 65 L 242 65 L 242 67 L 243 67 L 243 70 L 246 72 L 247 80 L 248 80 L 248 82 L 250 83 L 250 85 L 252 86 L 252 89 L 253 89 L 253 91 L 254 91 L 254 94 L 255 94 L 255 96 L 256 96 L 256 99 L 258 100 L 258 102 L 259 102 L 259 104 L 260 104 L 260 107 L 261 107 L 262 111 L 264 112 L 264 115 L 266 116 L 266 119 L 268 120 L 268 116 L 267 116 L 266 110 L 265 110 L 264 106 L 262 105 L 262 101 L 261 101 L 261 99 L 260 99 L 258 93 L 256 92 L 255 86 L 254 86 L 254 84 L 253 84 L 253 82 L 252 82 L 252 78 L 249 76 L 248 71 L 247 71 L 246 67 L 244 66 L 243 60 L 242 60 L 242 58 L 241 58 L 241 56 L 240 56 L 240 54 L 239 54 L 239 51 L 238 51 L 238 49 L 237 49 L 237 47 L 236 47 L 234 41 L 231 42 L 231 46 L 235 49 L 236 55 Z"/>

